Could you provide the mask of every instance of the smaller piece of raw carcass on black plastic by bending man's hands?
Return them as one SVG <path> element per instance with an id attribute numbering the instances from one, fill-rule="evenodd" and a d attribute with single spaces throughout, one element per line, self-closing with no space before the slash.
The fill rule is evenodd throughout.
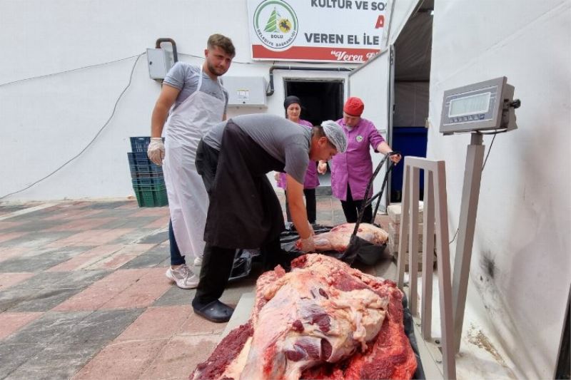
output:
<path id="1" fill-rule="evenodd" d="M 317 252 L 345 252 L 349 245 L 351 235 L 353 235 L 353 230 L 355 230 L 355 223 L 345 223 L 333 227 L 329 232 L 315 235 L 315 237 L 313 237 L 315 250 Z M 383 245 L 388 240 L 388 233 L 385 230 L 368 223 L 361 223 L 359 225 L 357 236 L 374 245 Z"/>

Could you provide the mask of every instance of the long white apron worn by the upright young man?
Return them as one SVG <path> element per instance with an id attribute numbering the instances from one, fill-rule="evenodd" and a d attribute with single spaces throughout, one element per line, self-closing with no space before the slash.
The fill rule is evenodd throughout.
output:
<path id="1" fill-rule="evenodd" d="M 168 116 L 165 130 L 163 173 L 173 232 L 181 255 L 202 257 L 208 194 L 194 161 L 198 141 L 220 123 L 226 103 L 200 91 L 202 66 L 196 91 Z M 220 81 L 218 81 L 218 86 Z M 222 88 L 222 86 L 221 86 Z"/>

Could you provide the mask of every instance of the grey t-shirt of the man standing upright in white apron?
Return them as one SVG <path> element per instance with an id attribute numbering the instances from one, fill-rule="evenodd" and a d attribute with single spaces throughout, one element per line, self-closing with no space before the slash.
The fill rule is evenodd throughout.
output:
<path id="1" fill-rule="evenodd" d="M 188 96 L 191 96 L 196 88 L 198 88 L 198 76 L 201 73 L 201 68 L 198 66 L 192 66 L 186 62 L 177 62 L 166 74 L 163 83 L 168 84 L 168 86 L 178 88 L 181 92 L 178 93 L 176 101 L 174 103 L 173 110 L 178 107 L 179 104 L 186 101 Z M 213 81 L 208 74 L 202 73 L 202 86 L 201 93 L 208 93 L 208 95 L 214 96 L 225 103 L 224 113 L 228 108 L 228 91 L 218 84 L 218 81 Z"/>

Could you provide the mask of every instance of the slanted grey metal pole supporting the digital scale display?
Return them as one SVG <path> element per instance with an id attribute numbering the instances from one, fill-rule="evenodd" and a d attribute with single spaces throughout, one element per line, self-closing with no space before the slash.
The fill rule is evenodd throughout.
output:
<path id="1" fill-rule="evenodd" d="M 462 338 L 462 325 L 464 322 L 468 278 L 470 276 L 470 260 L 472 258 L 483 161 L 484 145 L 482 145 L 482 134 L 472 133 L 464 169 L 462 205 L 460 206 L 460 219 L 458 220 L 458 241 L 456 242 L 452 283 L 454 340 L 455 352 L 457 353 L 460 351 L 460 340 Z"/>

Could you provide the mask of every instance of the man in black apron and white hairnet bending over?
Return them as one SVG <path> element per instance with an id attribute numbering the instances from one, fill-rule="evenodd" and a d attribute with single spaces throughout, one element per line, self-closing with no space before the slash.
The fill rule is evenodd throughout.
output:
<path id="1" fill-rule="evenodd" d="M 220 302 L 236 248 L 260 247 L 267 259 L 285 261 L 280 244 L 281 205 L 267 173 L 288 173 L 291 218 L 303 252 L 314 252 L 313 229 L 303 205 L 303 180 L 310 160 L 345 151 L 341 127 L 328 120 L 311 130 L 281 116 L 241 115 L 214 125 L 198 144 L 196 169 L 210 198 L 204 228 L 206 247 L 194 312 L 227 322 L 233 309 Z M 287 262 L 284 262 L 287 265 Z"/>

